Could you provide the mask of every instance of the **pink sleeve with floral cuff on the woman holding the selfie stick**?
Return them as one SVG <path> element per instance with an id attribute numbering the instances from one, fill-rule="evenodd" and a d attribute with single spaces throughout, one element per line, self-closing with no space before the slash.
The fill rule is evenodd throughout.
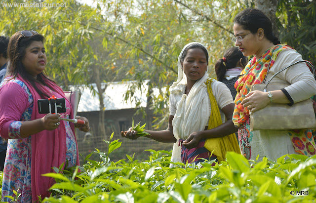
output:
<path id="1" fill-rule="evenodd" d="M 23 82 L 22 82 L 23 83 Z M 24 83 L 23 83 L 24 84 Z M 2 83 L 0 87 L 0 136 L 5 139 L 19 139 L 22 114 L 30 106 L 29 96 L 23 84 Z"/>

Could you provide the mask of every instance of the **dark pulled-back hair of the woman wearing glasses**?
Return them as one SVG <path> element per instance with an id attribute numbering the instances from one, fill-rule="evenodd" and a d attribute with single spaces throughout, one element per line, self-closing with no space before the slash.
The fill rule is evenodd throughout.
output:
<path id="1" fill-rule="evenodd" d="M 273 34 L 271 20 L 261 10 L 255 8 L 244 9 L 235 16 L 234 23 L 242 26 L 244 30 L 250 30 L 253 34 L 257 33 L 259 28 L 262 28 L 268 40 L 275 45 L 280 43 Z"/>

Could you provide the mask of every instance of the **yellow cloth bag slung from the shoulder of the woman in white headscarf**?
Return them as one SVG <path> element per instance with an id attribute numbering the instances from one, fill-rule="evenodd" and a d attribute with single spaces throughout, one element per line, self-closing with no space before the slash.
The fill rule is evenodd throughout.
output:
<path id="1" fill-rule="evenodd" d="M 207 129 L 212 129 L 222 124 L 219 108 L 212 91 L 212 82 L 213 79 L 209 79 L 205 82 L 212 109 Z M 217 156 L 218 163 L 226 159 L 226 152 L 233 151 L 240 154 L 235 133 L 224 137 L 206 139 L 204 147 L 210 152 L 214 150 L 213 154 Z"/>

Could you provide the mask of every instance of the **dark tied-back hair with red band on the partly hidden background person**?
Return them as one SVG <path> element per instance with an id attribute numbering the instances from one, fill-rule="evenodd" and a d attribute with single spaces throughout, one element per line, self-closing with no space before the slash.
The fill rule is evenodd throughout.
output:
<path id="1" fill-rule="evenodd" d="M 248 58 L 242 54 L 238 47 L 232 47 L 225 51 L 224 58 L 226 62 L 224 63 L 223 58 L 219 59 L 215 63 L 215 73 L 218 81 L 222 81 L 225 73 L 228 69 L 235 68 L 237 62 L 242 59 L 242 65 L 246 66 Z"/>

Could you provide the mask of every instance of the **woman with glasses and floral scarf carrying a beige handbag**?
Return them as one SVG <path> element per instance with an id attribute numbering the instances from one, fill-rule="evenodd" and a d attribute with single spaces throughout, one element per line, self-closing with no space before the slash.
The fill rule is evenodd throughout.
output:
<path id="1" fill-rule="evenodd" d="M 259 155 L 260 160 L 263 156 L 276 160 L 285 154 L 315 155 L 312 129 L 250 131 L 249 127 L 249 110 L 258 111 L 270 102 L 293 104 L 316 94 L 316 81 L 305 63 L 298 63 L 278 74 L 270 84 L 289 86 L 271 91 L 270 98 L 268 92 L 250 92 L 252 85 L 264 80 L 270 60 L 267 81 L 282 68 L 302 60 L 302 56 L 293 48 L 280 44 L 272 32 L 270 19 L 258 9 L 248 8 L 237 14 L 234 35 L 235 45 L 244 56 L 255 55 L 241 72 L 243 76 L 235 83 L 237 96 L 233 121 L 239 127 L 239 146 L 244 156 L 255 159 Z"/>

